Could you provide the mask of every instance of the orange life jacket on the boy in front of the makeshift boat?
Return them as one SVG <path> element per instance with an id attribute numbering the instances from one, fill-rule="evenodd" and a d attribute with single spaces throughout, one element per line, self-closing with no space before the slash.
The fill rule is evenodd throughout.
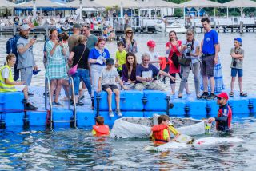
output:
<path id="1" fill-rule="evenodd" d="M 162 144 L 166 144 L 168 142 L 163 137 L 164 129 L 168 130 L 168 125 L 154 125 L 153 126 L 153 128 L 151 130 L 153 132 L 154 144 L 162 145 Z M 168 133 L 169 133 L 169 136 L 170 136 L 169 131 L 168 131 Z"/>

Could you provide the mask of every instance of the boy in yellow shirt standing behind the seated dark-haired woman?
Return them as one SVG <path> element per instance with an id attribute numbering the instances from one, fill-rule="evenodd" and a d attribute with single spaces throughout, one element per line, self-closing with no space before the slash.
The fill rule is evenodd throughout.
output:
<path id="1" fill-rule="evenodd" d="M 122 76 L 122 65 L 126 63 L 126 50 L 125 45 L 123 42 L 119 41 L 117 42 L 118 51 L 115 53 L 115 64 L 114 66 L 118 70 L 118 74 L 121 77 Z"/>

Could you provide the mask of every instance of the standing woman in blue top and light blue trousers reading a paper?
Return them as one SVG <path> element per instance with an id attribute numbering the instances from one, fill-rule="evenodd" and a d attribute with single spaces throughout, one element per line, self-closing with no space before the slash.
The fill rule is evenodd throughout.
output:
<path id="1" fill-rule="evenodd" d="M 106 59 L 110 58 L 110 52 L 105 48 L 106 39 L 99 37 L 96 46 L 90 50 L 90 77 L 92 82 L 91 97 L 94 107 L 94 92 L 98 89 L 98 78 L 102 69 L 106 66 Z"/>

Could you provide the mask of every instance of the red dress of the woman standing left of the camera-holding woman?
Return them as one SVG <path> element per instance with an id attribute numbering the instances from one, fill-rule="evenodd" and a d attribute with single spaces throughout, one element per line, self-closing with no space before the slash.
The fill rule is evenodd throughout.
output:
<path id="1" fill-rule="evenodd" d="M 178 47 L 182 46 L 182 41 L 178 41 L 177 46 L 174 46 L 171 42 L 167 42 L 166 47 L 170 47 L 170 46 L 171 46 L 171 49 L 170 49 L 168 59 L 170 60 L 170 62 L 172 62 L 171 57 L 173 56 L 174 53 L 176 53 L 178 57 L 182 56 L 182 54 L 178 51 Z M 169 73 L 170 74 L 179 73 L 180 67 L 181 66 L 178 65 L 178 68 L 176 68 L 176 66 L 174 66 L 174 63 L 171 63 Z"/>

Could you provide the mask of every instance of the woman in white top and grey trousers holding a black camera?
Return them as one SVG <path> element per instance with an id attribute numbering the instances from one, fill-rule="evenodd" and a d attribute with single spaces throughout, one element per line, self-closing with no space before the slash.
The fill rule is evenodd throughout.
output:
<path id="1" fill-rule="evenodd" d="M 186 61 L 181 63 L 182 66 L 182 81 L 179 85 L 178 97 L 182 98 L 182 93 L 187 84 L 187 78 L 190 74 L 190 69 L 194 74 L 194 89 L 197 97 L 200 97 L 200 62 L 199 62 L 199 53 L 200 53 L 200 44 L 197 40 L 194 39 L 194 31 L 188 30 L 186 32 L 186 40 L 182 42 L 181 47 L 182 58 Z"/>

